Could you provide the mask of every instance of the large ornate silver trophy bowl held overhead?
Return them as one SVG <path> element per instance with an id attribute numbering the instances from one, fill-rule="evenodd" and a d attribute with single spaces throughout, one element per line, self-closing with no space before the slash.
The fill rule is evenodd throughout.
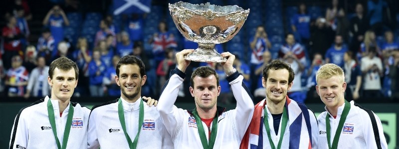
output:
<path id="1" fill-rule="evenodd" d="M 196 62 L 226 62 L 215 50 L 215 44 L 232 39 L 241 29 L 249 9 L 237 5 L 218 6 L 209 2 L 191 4 L 188 2 L 169 3 L 173 21 L 183 36 L 198 43 L 198 48 L 185 56 Z"/>

